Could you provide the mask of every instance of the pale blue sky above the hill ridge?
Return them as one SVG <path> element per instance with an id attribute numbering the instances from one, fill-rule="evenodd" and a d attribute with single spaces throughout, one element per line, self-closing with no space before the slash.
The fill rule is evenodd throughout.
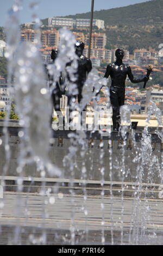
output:
<path id="1" fill-rule="evenodd" d="M 40 19 L 87 13 L 91 9 L 91 0 L 22 0 L 22 2 L 23 9 L 20 13 L 20 23 L 33 21 L 32 10 L 29 8 L 29 4 L 34 2 L 39 3 L 37 9 L 35 9 L 35 13 Z M 147 2 L 147 0 L 95 0 L 94 10 L 106 10 L 142 2 Z M 8 10 L 15 3 L 15 0 L 0 0 L 0 3 L 0 26 L 5 26 Z"/>

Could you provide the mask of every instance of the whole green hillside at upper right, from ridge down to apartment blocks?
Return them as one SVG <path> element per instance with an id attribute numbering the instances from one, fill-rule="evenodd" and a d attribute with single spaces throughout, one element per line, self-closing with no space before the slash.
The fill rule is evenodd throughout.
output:
<path id="1" fill-rule="evenodd" d="M 90 13 L 66 17 L 89 19 Z M 159 44 L 163 43 L 163 0 L 95 11 L 93 18 L 105 21 L 106 48 L 124 47 L 130 53 L 135 48 L 154 48 L 158 51 Z"/>

